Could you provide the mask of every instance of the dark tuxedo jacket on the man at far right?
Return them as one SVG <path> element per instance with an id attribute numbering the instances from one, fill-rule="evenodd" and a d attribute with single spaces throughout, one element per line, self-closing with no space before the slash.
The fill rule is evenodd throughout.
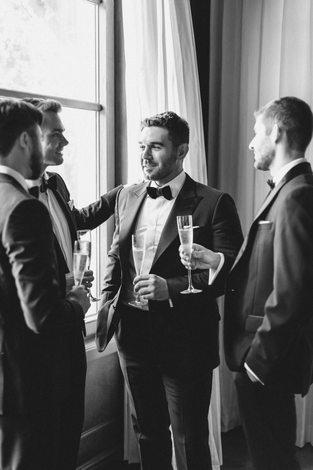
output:
<path id="1" fill-rule="evenodd" d="M 226 362 L 305 395 L 313 368 L 313 175 L 293 167 L 267 196 L 232 267 Z"/>

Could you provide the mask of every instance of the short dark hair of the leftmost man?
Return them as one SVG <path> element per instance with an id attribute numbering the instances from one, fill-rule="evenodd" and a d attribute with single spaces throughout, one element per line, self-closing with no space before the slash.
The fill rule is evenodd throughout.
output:
<path id="1" fill-rule="evenodd" d="M 7 157 L 22 132 L 34 135 L 34 126 L 42 125 L 43 114 L 30 103 L 0 100 L 0 155 Z"/>

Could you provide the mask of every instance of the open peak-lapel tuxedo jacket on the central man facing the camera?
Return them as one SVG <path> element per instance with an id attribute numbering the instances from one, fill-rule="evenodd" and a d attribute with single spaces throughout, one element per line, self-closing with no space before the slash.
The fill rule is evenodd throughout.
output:
<path id="1" fill-rule="evenodd" d="M 99 351 L 106 347 L 114 333 L 118 347 L 122 341 L 120 319 L 123 304 L 119 293 L 125 289 L 132 249 L 131 235 L 135 231 L 148 184 L 123 188 L 117 196 L 116 229 L 107 257 L 102 307 L 98 313 L 96 344 Z M 193 225 L 198 226 L 193 230 L 194 243 L 222 252 L 225 263 L 211 286 L 208 286 L 208 271 L 193 272 L 192 283 L 202 292 L 184 295 L 180 291 L 188 287 L 188 275 L 179 256 L 176 216 L 190 214 Z M 168 375 L 194 376 L 219 364 L 220 315 L 216 297 L 224 293 L 226 275 L 242 240 L 240 221 L 231 197 L 186 175 L 162 230 L 150 270 L 150 274 L 166 279 L 173 307 L 168 300 L 149 300 L 149 312 L 145 312 L 156 360 Z"/>

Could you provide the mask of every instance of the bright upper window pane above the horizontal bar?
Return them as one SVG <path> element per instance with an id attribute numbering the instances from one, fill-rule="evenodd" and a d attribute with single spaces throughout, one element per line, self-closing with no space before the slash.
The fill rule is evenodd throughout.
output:
<path id="1" fill-rule="evenodd" d="M 83 0 L 0 1 L 0 88 L 95 101 L 96 8 Z"/>

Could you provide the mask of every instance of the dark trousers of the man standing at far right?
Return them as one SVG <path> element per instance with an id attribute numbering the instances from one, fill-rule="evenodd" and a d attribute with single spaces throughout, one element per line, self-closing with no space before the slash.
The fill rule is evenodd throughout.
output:
<path id="1" fill-rule="evenodd" d="M 297 416 L 294 395 L 252 382 L 237 373 L 239 415 L 254 470 L 300 470 L 296 459 Z"/>

